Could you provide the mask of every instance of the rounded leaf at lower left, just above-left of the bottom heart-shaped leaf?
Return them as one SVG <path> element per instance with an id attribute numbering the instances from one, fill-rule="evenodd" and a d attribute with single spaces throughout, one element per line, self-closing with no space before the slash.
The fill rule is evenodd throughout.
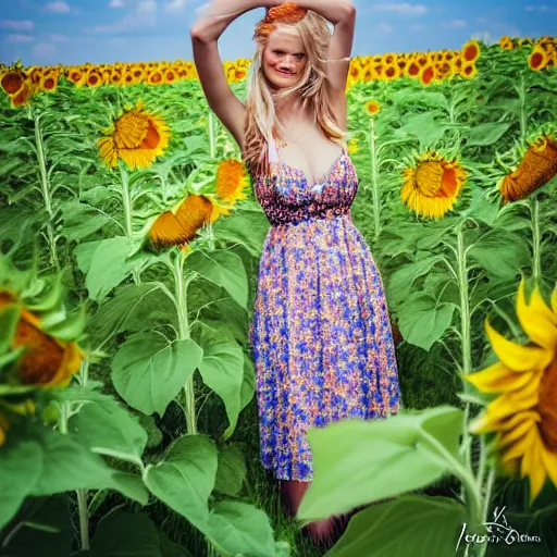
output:
<path id="1" fill-rule="evenodd" d="M 70 429 L 94 453 L 143 466 L 147 433 L 114 399 L 85 404 L 71 419 Z"/>

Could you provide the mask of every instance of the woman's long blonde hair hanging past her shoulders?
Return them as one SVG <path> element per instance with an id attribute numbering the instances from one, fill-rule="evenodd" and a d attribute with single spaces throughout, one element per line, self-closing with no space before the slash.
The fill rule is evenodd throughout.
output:
<path id="1" fill-rule="evenodd" d="M 273 92 L 263 74 L 262 61 L 269 33 L 276 28 L 276 25 L 299 33 L 308 62 L 304 76 L 296 85 Z M 311 108 L 314 122 L 325 136 L 334 143 L 344 145 L 346 134 L 335 121 L 331 89 L 325 87 L 331 41 L 327 21 L 318 13 L 307 10 L 306 14 L 294 23 L 276 21 L 269 25 L 260 22 L 256 27 L 253 40 L 257 42 L 257 51 L 248 77 L 243 152 L 250 172 L 256 175 L 269 175 L 269 141 L 272 138 L 281 138 L 281 132 L 284 132 L 284 126 L 276 115 L 275 101 L 296 91 L 299 91 L 302 109 Z"/>

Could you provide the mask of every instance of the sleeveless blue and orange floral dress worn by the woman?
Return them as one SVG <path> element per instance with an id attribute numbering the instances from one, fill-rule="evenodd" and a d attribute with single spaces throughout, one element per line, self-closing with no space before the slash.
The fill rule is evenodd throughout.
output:
<path id="1" fill-rule="evenodd" d="M 399 409 L 385 292 L 350 206 L 346 151 L 317 184 L 269 146 L 271 176 L 252 176 L 271 227 L 259 262 L 249 343 L 257 374 L 261 462 L 280 480 L 311 481 L 306 432 Z"/>

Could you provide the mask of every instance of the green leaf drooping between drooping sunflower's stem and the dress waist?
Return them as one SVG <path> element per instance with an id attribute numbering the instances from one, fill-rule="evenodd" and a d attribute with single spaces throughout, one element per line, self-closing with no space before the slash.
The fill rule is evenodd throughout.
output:
<path id="1" fill-rule="evenodd" d="M 248 278 L 242 259 L 232 251 L 195 251 L 186 259 L 186 267 L 207 280 L 222 286 L 244 309 L 248 302 Z"/>

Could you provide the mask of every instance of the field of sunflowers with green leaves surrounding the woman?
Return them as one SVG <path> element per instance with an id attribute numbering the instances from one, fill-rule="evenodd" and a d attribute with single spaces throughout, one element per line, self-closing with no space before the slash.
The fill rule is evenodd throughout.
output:
<path id="1" fill-rule="evenodd" d="M 269 221 L 195 65 L 0 86 L 0 555 L 318 556 L 300 525 L 349 511 L 329 557 L 555 555 L 555 38 L 352 59 L 404 410 L 308 432 L 296 520 L 248 345 Z"/>

